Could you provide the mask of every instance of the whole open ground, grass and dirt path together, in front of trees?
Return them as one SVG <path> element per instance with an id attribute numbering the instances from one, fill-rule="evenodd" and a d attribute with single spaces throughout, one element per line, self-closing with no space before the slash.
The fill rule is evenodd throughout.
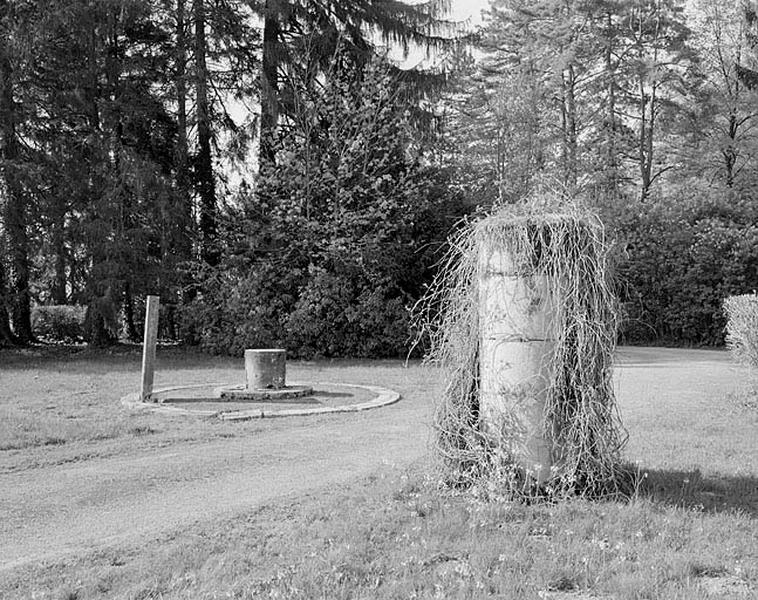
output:
<path id="1" fill-rule="evenodd" d="M 404 399 L 373 413 L 230 424 L 120 411 L 136 354 L 2 359 L 0 411 L 20 430 L 0 433 L 2 598 L 758 596 L 758 415 L 737 402 L 742 372 L 724 352 L 620 349 L 634 497 L 534 505 L 439 488 L 423 459 L 439 377 L 418 365 L 294 363 L 298 380 L 377 383 Z M 230 359 L 160 360 L 167 383 L 239 370 Z M 214 453 L 218 472 L 181 458 L 205 465 Z M 115 464 L 133 473 L 108 471 Z M 67 469 L 82 479 L 56 488 Z M 258 487 L 234 487 L 249 471 Z M 224 486 L 243 497 L 220 504 Z M 50 489 L 67 494 L 35 497 Z M 88 525 L 107 533 L 109 520 L 126 515 L 139 530 L 150 513 L 186 518 L 77 539 L 79 519 L 97 515 L 105 522 Z M 45 544 L 59 553 L 46 556 Z"/>

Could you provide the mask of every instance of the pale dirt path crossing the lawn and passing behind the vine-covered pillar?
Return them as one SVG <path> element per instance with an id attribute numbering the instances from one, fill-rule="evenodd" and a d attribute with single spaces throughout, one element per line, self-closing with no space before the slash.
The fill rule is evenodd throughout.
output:
<path id="1" fill-rule="evenodd" d="M 620 354 L 622 396 L 637 394 L 644 380 L 655 382 L 649 393 L 656 397 L 678 393 L 675 386 L 686 379 L 664 370 L 686 371 L 693 360 L 699 375 L 713 376 L 703 380 L 713 381 L 711 389 L 700 385 L 697 393 L 723 390 L 733 379 L 724 353 Z M 404 398 L 366 413 L 293 421 L 293 430 L 2 474 L 0 570 L 113 542 L 148 542 L 195 521 L 328 488 L 383 464 L 402 466 L 427 451 L 430 414 L 428 401 Z"/>

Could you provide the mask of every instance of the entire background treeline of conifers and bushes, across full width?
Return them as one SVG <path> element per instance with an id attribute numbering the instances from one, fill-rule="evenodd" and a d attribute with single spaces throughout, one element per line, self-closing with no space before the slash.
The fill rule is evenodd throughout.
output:
<path id="1" fill-rule="evenodd" d="M 402 354 L 451 226 L 545 190 L 604 215 L 626 340 L 720 343 L 755 3 L 493 0 L 476 46 L 445 4 L 0 2 L 0 343 L 138 339 L 151 293 L 212 352 Z"/>

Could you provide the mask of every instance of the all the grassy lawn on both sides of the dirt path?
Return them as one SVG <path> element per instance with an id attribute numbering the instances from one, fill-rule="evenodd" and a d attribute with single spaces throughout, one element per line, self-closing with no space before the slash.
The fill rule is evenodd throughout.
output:
<path id="1" fill-rule="evenodd" d="M 628 352 L 633 360 L 618 384 L 626 458 L 640 470 L 630 500 L 484 502 L 471 491 L 441 490 L 418 463 L 149 545 L 0 572 L 0 597 L 758 598 L 758 413 L 735 401 L 739 371 L 716 353 Z M 0 400 L 11 423 L 0 430 L 0 465 L 27 469 L 263 426 L 126 413 L 105 422 L 102 403 L 134 390 L 135 361 L 4 355 L 3 389 L 15 391 Z M 171 383 L 189 384 L 234 381 L 237 362 L 176 354 L 162 365 Z M 438 377 L 415 367 L 401 384 L 392 379 L 399 369 L 386 363 L 292 371 L 293 379 L 370 377 L 425 401 Z"/>

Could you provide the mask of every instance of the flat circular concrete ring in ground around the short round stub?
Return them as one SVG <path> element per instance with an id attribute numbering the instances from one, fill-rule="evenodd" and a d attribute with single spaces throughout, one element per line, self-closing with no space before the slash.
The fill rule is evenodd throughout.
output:
<path id="1" fill-rule="evenodd" d="M 301 386 L 305 384 L 292 384 Z M 121 398 L 121 404 L 131 409 L 147 409 L 152 412 L 169 414 L 169 415 L 186 415 L 194 417 L 215 417 L 222 421 L 248 421 L 250 419 L 263 419 L 271 417 L 305 417 L 309 415 L 326 415 L 330 413 L 345 413 L 345 412 L 359 412 L 363 410 L 369 410 L 372 408 L 380 408 L 382 406 L 389 406 L 400 400 L 400 394 L 394 390 L 375 386 L 375 385 L 358 385 L 354 383 L 314 383 L 312 385 L 334 385 L 347 388 L 355 388 L 365 390 L 376 394 L 371 400 L 360 402 L 357 404 L 346 404 L 344 406 L 320 406 L 318 408 L 295 408 L 287 410 L 237 410 L 237 411 L 222 411 L 222 410 L 196 410 L 191 408 L 180 408 L 174 406 L 171 403 L 164 402 L 143 402 L 140 398 L 139 392 L 127 394 Z M 153 395 L 166 394 L 170 392 L 179 392 L 183 390 L 196 390 L 201 388 L 229 388 L 233 387 L 224 383 L 203 383 L 198 385 L 182 385 L 157 389 L 153 392 Z M 218 398 L 214 401 L 223 403 L 223 400 Z"/>

